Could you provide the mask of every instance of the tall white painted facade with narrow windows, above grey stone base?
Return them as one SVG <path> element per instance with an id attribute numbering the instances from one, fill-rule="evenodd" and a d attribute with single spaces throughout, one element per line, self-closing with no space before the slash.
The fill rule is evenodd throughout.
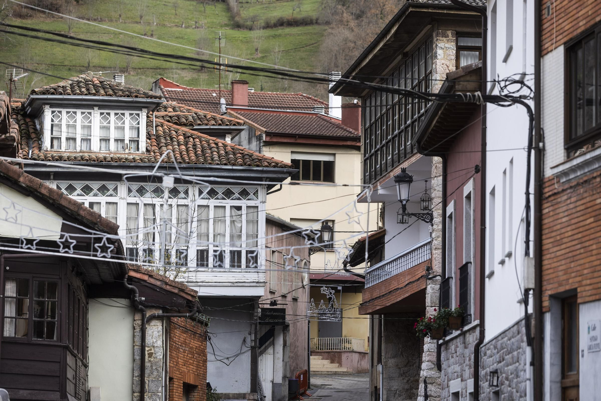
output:
<path id="1" fill-rule="evenodd" d="M 496 8 L 496 35 L 492 13 Z M 507 0 L 489 2 L 489 49 L 496 48 L 495 55 L 489 55 L 488 79 L 493 73 L 505 78 L 514 73 L 531 74 L 534 72 L 534 2 L 513 0 L 513 19 L 507 23 Z M 524 19 L 526 20 L 524 22 Z M 508 48 L 507 26 L 513 25 L 513 50 L 503 63 Z M 496 45 L 494 42 L 496 37 Z M 490 64 L 494 60 L 494 65 Z M 526 79 L 532 75 L 526 75 Z M 496 75 L 494 75 L 496 79 Z M 532 83 L 532 81 L 528 81 Z M 498 88 L 495 88 L 495 94 Z M 532 105 L 532 107 L 534 107 Z M 486 171 L 486 261 L 489 272 L 486 279 L 486 338 L 494 337 L 507 326 L 513 324 L 523 315 L 523 306 L 518 303 L 521 294 L 516 278 L 522 281 L 523 266 L 523 233 L 520 226 L 525 204 L 525 172 L 526 153 L 523 148 L 528 143 L 528 114 L 525 108 L 515 105 L 501 108 L 494 105 L 487 107 L 487 171 Z M 515 149 L 515 150 L 501 150 Z M 491 152 L 493 151 L 493 152 Z M 510 179 L 510 162 L 513 161 L 513 179 Z M 532 156 L 532 162 L 534 156 Z M 505 178 L 504 174 L 505 173 Z M 534 172 L 532 167 L 531 173 Z M 505 191 L 503 182 L 505 180 Z M 513 181 L 513 185 L 510 184 Z M 531 191 L 533 190 L 531 179 Z M 510 187 L 513 188 L 510 191 Z M 495 188 L 495 235 L 494 243 L 490 243 L 490 191 Z M 505 208 L 503 203 L 505 202 Z M 505 209 L 505 212 L 503 210 Z M 511 212 L 510 212 L 511 210 Z M 503 229 L 503 226 L 505 229 Z M 519 228 L 519 233 L 518 233 Z M 532 231 L 531 231 L 532 235 Z M 514 244 L 517 237 L 517 247 Z M 512 256 L 505 257 L 511 250 Z M 531 255 L 534 249 L 531 246 Z M 492 253 L 492 254 L 491 254 Z M 498 264 L 504 260 L 504 264 Z M 490 263 L 493 261 L 493 263 Z"/>

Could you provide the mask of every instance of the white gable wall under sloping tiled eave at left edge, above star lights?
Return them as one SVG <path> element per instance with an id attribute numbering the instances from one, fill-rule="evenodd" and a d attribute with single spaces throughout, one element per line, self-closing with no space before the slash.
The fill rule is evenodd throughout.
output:
<path id="1" fill-rule="evenodd" d="M 0 185 L 0 236 L 58 240 L 63 218 L 30 196 Z M 31 227 L 31 232 L 29 228 Z"/>

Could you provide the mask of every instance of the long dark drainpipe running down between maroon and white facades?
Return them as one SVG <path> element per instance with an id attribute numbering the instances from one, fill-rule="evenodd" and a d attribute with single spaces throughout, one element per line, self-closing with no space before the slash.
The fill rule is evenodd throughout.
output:
<path id="1" fill-rule="evenodd" d="M 480 7 L 474 7 L 473 5 L 466 4 L 460 0 L 450 0 L 452 4 L 458 7 L 465 8 L 465 10 L 473 11 L 482 16 L 482 83 L 480 93 L 485 95 L 487 93 L 486 88 L 486 75 L 487 75 L 487 40 L 488 40 L 488 17 L 486 15 L 486 9 Z M 536 14 L 536 12 L 535 12 Z M 480 296 L 478 301 L 478 319 L 480 324 L 478 325 L 478 341 L 474 345 L 474 400 L 480 400 L 480 347 L 484 343 L 484 314 L 486 309 L 484 308 L 484 285 L 486 278 L 486 102 L 482 103 L 481 108 L 481 123 L 482 132 L 480 138 Z"/>

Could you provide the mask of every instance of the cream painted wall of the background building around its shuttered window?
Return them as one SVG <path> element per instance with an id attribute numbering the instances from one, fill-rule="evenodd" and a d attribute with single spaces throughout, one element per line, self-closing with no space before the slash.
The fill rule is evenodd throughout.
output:
<path id="1" fill-rule="evenodd" d="M 376 230 L 378 225 L 379 205 L 356 204 L 355 208 L 352 202 L 362 188 L 340 186 L 340 184 L 361 184 L 361 152 L 358 149 L 342 146 L 278 144 L 263 147 L 264 154 L 287 162 L 290 162 L 291 152 L 335 154 L 334 179 L 335 184 L 339 185 L 287 185 L 286 183 L 290 182 L 288 179 L 282 185 L 281 191 L 267 196 L 267 213 L 288 221 L 290 219 L 322 220 L 327 218 L 327 220 L 334 220 L 334 231 L 356 231 L 335 232 L 334 234 L 335 248 L 343 252 L 342 257 L 344 258 L 355 241 L 365 235 L 365 231 Z M 369 222 L 367 216 L 369 216 Z M 349 217 L 352 217 L 350 221 Z M 317 252 L 311 256 L 311 270 L 327 270 L 325 265 L 334 265 L 335 259 L 334 252 L 326 252 L 326 255 L 324 252 Z M 360 265 L 354 270 L 361 271 L 362 267 Z M 341 267 L 337 269 L 341 269 Z"/>

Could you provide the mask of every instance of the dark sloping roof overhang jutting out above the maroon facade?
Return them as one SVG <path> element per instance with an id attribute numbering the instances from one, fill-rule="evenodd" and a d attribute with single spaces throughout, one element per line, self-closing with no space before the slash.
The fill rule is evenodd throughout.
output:
<path id="1" fill-rule="evenodd" d="M 481 89 L 482 62 L 468 64 L 447 73 L 447 79 L 438 93 L 473 94 Z M 468 120 L 480 108 L 466 96 L 466 102 L 435 102 L 430 105 L 413 141 L 420 154 L 436 156 L 446 154 L 457 133 L 466 128 Z"/>

